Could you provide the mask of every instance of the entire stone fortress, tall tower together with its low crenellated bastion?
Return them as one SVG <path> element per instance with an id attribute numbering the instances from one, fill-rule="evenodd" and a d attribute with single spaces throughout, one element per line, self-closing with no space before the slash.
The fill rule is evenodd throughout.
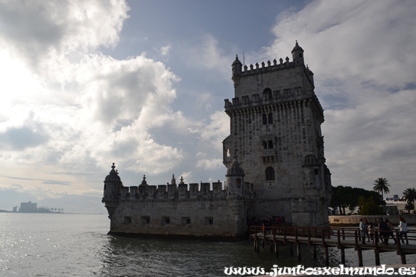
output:
<path id="1" fill-rule="evenodd" d="M 295 44 L 288 57 L 243 66 L 232 63 L 234 98 L 225 100 L 230 134 L 223 141 L 220 181 L 123 186 L 113 163 L 103 203 L 110 233 L 245 238 L 250 217 L 284 216 L 297 226 L 329 223 L 331 173 L 325 165 L 323 109 L 313 73 Z"/>

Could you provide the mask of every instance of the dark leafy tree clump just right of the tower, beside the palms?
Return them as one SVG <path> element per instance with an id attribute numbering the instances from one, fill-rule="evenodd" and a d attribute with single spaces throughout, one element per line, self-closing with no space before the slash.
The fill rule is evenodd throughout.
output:
<path id="1" fill-rule="evenodd" d="M 372 190 L 363 188 L 352 188 L 350 186 L 337 186 L 332 188 L 332 199 L 329 206 L 333 209 L 338 208 L 340 215 L 345 215 L 345 208 L 354 211 L 358 206 L 361 208 L 363 204 L 372 197 L 374 204 L 383 205 L 381 195 Z M 361 202 L 360 202 L 361 201 Z"/>

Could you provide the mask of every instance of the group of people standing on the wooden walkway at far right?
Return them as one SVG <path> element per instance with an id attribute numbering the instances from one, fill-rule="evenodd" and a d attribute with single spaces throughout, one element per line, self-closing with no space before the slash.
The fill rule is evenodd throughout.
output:
<path id="1" fill-rule="evenodd" d="M 401 240 L 401 243 L 404 244 L 404 240 L 406 240 L 406 244 L 409 244 L 407 232 L 408 232 L 408 226 L 406 223 L 406 220 L 404 220 L 403 217 L 399 217 L 399 238 L 395 238 L 395 226 L 389 221 L 389 220 L 383 220 L 383 217 L 379 218 L 379 240 L 381 240 L 381 243 L 388 244 L 388 240 L 390 237 L 395 241 L 395 244 L 397 244 L 397 240 Z M 365 243 L 365 238 L 367 238 L 367 242 L 374 242 L 375 239 L 375 233 L 376 229 L 372 222 L 368 222 L 366 218 L 360 219 L 359 228 L 361 231 L 361 240 L 363 244 Z"/>

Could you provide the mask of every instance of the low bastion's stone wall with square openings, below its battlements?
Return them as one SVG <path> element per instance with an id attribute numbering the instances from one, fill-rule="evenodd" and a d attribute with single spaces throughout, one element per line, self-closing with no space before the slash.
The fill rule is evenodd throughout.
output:
<path id="1" fill-rule="evenodd" d="M 244 206 L 241 200 L 239 203 Z M 189 201 L 121 201 L 112 215 L 110 233 L 197 238 L 241 238 L 227 199 Z"/>

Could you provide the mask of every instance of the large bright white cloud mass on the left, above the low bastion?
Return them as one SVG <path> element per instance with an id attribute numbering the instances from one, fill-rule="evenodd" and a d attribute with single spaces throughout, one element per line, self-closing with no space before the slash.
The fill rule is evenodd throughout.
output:
<path id="1" fill-rule="evenodd" d="M 3 163 L 70 174 L 116 161 L 157 174 L 183 159 L 151 132 L 175 120 L 193 128 L 170 107 L 179 78 L 145 55 L 116 60 L 100 52 L 116 45 L 128 10 L 124 1 L 0 2 Z"/>

